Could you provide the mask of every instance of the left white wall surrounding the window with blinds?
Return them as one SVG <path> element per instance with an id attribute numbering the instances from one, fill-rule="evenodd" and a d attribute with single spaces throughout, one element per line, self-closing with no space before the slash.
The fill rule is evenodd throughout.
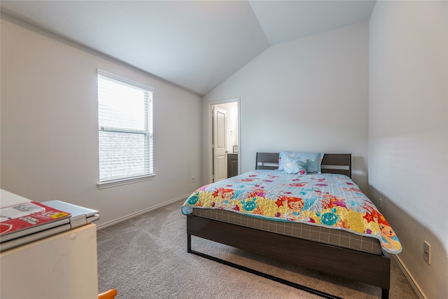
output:
<path id="1" fill-rule="evenodd" d="M 97 68 L 155 89 L 155 179 L 97 188 Z M 99 209 L 108 223 L 199 187 L 200 130 L 198 95 L 2 15 L 1 188 Z"/>

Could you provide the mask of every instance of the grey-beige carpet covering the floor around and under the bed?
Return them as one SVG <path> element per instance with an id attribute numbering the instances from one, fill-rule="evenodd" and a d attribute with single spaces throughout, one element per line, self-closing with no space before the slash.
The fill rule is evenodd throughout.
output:
<path id="1" fill-rule="evenodd" d="M 320 298 L 187 253 L 182 203 L 174 202 L 98 231 L 99 291 L 117 288 L 116 298 L 135 299 Z M 293 267 L 197 237 L 192 244 L 194 250 L 341 298 L 381 297 L 381 288 L 376 286 Z M 390 298 L 418 298 L 393 260 Z"/>

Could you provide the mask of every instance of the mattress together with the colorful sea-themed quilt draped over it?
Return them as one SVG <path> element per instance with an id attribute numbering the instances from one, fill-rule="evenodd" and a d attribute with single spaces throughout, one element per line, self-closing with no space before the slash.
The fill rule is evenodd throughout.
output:
<path id="1" fill-rule="evenodd" d="M 257 169 L 198 188 L 181 211 L 190 214 L 193 208 L 207 210 L 196 211 L 202 217 L 357 251 L 402 249 L 381 212 L 342 174 Z"/>

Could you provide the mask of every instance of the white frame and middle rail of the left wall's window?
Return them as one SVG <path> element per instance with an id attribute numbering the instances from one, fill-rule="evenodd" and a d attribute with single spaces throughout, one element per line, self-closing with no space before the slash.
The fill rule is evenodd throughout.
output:
<path id="1" fill-rule="evenodd" d="M 139 181 L 146 181 L 149 179 L 154 179 L 155 178 L 155 173 L 154 173 L 154 138 L 153 138 L 153 93 L 154 93 L 154 88 L 151 88 L 147 85 L 129 80 L 127 78 L 123 78 L 122 76 L 118 76 L 116 74 L 112 74 L 109 73 L 108 71 L 104 71 L 102 69 L 97 69 L 97 101 L 99 104 L 99 95 L 98 95 L 98 91 L 99 91 L 99 77 L 106 77 L 109 78 L 113 81 L 118 81 L 118 83 L 123 83 L 125 85 L 130 85 L 134 88 L 139 88 L 142 90 L 145 90 L 145 92 L 151 92 L 151 96 L 148 95 L 148 103 L 145 104 L 145 110 L 144 114 L 145 114 L 145 129 L 146 130 L 127 130 L 127 129 L 120 129 L 120 128 L 116 128 L 116 127 L 104 127 L 102 125 L 99 124 L 99 106 L 97 106 L 98 108 L 98 120 L 97 120 L 97 125 L 98 125 L 98 170 L 101 167 L 101 158 L 100 158 L 100 151 L 99 151 L 99 144 L 100 144 L 100 132 L 118 132 L 118 133 L 123 133 L 123 134 L 144 134 L 145 138 L 144 138 L 144 156 L 145 159 L 148 159 L 148 165 L 145 165 L 145 167 L 149 167 L 148 172 L 142 175 L 137 175 L 137 176 L 125 176 L 125 177 L 121 177 L 118 179 L 109 179 L 109 180 L 104 180 L 101 181 L 100 177 L 99 177 L 99 172 L 98 172 L 98 178 L 99 178 L 99 182 L 97 183 L 97 187 L 99 189 L 102 188 L 109 188 L 109 187 L 113 187 L 113 186 L 121 186 L 121 185 L 125 185 L 128 183 L 137 183 Z"/>

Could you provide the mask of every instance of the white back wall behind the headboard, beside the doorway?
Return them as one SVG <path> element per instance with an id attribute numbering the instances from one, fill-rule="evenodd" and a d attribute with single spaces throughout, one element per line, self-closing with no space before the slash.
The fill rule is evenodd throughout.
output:
<path id="1" fill-rule="evenodd" d="M 352 153 L 367 192 L 368 32 L 362 22 L 271 46 L 204 97 L 204 115 L 241 97 L 241 172 L 257 151 Z"/>

